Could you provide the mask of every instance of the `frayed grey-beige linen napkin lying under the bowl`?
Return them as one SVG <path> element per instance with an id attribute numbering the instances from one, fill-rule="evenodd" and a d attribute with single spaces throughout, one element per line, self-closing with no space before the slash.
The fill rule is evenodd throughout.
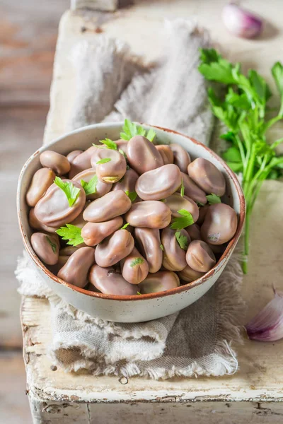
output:
<path id="1" fill-rule="evenodd" d="M 125 117 L 181 131 L 208 144 L 213 117 L 206 86 L 197 71 L 207 33 L 184 20 L 167 22 L 166 50 L 147 69 L 125 43 L 98 36 L 74 47 L 76 94 L 68 128 Z M 224 273 L 185 310 L 137 324 L 105 322 L 76 310 L 47 288 L 27 254 L 16 271 L 22 295 L 50 301 L 53 343 L 50 355 L 66 371 L 94 375 L 174 376 L 232 374 L 238 363 L 231 348 L 239 341 L 237 317 L 243 311 L 237 253 Z"/>

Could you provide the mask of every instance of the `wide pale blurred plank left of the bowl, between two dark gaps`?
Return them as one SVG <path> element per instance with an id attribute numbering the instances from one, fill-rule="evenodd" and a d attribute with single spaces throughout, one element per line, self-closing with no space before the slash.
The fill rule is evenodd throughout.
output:
<path id="1" fill-rule="evenodd" d="M 42 144 L 47 106 L 0 107 L 0 346 L 22 346 L 18 309 L 20 296 L 14 276 L 23 251 L 16 215 L 16 187 L 25 160 Z"/>

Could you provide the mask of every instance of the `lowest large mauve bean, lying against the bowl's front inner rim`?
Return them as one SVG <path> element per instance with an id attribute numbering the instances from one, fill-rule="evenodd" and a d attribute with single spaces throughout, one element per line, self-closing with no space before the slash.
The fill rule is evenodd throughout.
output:
<path id="1" fill-rule="evenodd" d="M 128 283 L 123 276 L 112 267 L 102 268 L 93 265 L 89 273 L 91 285 L 104 295 L 133 296 L 137 295 L 137 285 Z"/>

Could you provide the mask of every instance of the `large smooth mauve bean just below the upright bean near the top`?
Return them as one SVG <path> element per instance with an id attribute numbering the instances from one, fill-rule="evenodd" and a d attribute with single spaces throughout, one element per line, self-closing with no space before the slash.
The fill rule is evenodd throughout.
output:
<path id="1" fill-rule="evenodd" d="M 180 170 L 171 163 L 144 172 L 137 179 L 136 192 L 143 200 L 161 200 L 175 193 L 180 184 Z"/>

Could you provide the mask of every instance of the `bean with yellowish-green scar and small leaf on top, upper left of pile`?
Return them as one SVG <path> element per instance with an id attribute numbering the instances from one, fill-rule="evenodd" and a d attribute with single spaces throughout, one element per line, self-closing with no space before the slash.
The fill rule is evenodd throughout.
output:
<path id="1" fill-rule="evenodd" d="M 100 163 L 103 160 L 108 162 Z M 110 148 L 98 148 L 91 156 L 91 166 L 96 170 L 98 179 L 106 184 L 119 181 L 127 170 L 124 156 Z"/>

